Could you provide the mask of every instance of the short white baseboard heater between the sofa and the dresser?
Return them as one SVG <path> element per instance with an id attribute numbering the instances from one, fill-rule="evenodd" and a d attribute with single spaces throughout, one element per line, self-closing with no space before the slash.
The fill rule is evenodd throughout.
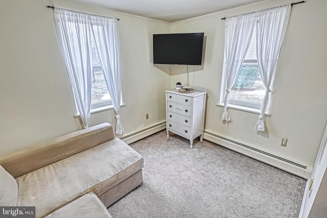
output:
<path id="1" fill-rule="evenodd" d="M 155 124 L 151 127 L 133 132 L 131 134 L 128 134 L 126 136 L 121 137 L 123 141 L 125 141 L 127 144 L 133 143 L 135 141 L 141 140 L 143 138 L 146 138 L 150 135 L 153 135 L 154 133 L 160 132 L 162 130 L 166 129 L 166 120 L 164 122 Z"/>

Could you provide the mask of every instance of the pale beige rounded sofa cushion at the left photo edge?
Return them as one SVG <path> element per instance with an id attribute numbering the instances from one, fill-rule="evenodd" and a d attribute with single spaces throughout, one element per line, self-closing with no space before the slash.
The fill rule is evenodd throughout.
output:
<path id="1" fill-rule="evenodd" d="M 18 185 L 4 167 L 0 165 L 0 206 L 17 206 Z"/>

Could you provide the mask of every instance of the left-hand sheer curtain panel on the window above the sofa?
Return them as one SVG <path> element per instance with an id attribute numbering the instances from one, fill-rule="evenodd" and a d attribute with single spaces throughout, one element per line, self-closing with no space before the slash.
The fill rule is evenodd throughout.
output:
<path id="1" fill-rule="evenodd" d="M 83 128 L 91 110 L 91 35 L 85 14 L 54 9 L 61 53 L 68 71 Z"/>

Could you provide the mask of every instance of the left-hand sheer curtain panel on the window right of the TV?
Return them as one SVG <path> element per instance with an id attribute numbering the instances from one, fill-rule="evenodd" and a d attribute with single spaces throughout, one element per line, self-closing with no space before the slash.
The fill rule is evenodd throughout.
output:
<path id="1" fill-rule="evenodd" d="M 227 112 L 229 92 L 237 79 L 246 52 L 249 48 L 255 24 L 254 18 L 253 13 L 226 18 L 225 54 L 223 65 L 223 81 L 226 82 L 224 112 L 221 115 L 221 119 L 226 123 L 230 121 L 230 116 Z"/>

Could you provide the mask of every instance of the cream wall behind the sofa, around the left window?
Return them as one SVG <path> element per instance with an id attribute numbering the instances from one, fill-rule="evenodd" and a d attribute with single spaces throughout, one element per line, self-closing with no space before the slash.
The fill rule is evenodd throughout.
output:
<path id="1" fill-rule="evenodd" d="M 170 71 L 153 66 L 151 40 L 170 23 L 63 0 L 0 0 L 0 154 L 82 128 L 47 5 L 120 18 L 125 132 L 166 119 Z M 113 110 L 91 114 L 89 126 L 104 122 L 115 125 Z"/>

